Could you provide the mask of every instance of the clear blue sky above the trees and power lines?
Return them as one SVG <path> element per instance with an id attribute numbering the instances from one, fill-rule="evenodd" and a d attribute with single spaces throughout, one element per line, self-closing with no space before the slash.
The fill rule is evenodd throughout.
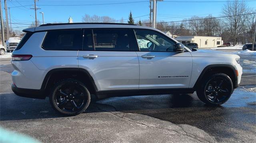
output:
<path id="1" fill-rule="evenodd" d="M 4 0 L 1 0 L 1 3 L 5 19 Z M 178 21 L 209 14 L 220 16 L 225 3 L 225 0 L 163 0 L 157 2 L 157 21 Z M 246 0 L 246 4 L 256 9 L 256 0 Z M 70 16 L 73 22 L 82 22 L 85 14 L 109 16 L 115 20 L 124 18 L 124 22 L 127 22 L 130 11 L 133 17 L 138 17 L 134 18 L 135 22 L 149 19 L 149 0 L 38 0 L 36 6 L 40 8 L 37 10 L 40 24 L 42 14 L 39 12 L 44 12 L 45 23 L 66 23 Z M 34 7 L 34 0 L 7 0 L 7 7 L 10 7 L 14 30 L 25 29 L 34 22 L 35 12 L 30 9 Z"/>

